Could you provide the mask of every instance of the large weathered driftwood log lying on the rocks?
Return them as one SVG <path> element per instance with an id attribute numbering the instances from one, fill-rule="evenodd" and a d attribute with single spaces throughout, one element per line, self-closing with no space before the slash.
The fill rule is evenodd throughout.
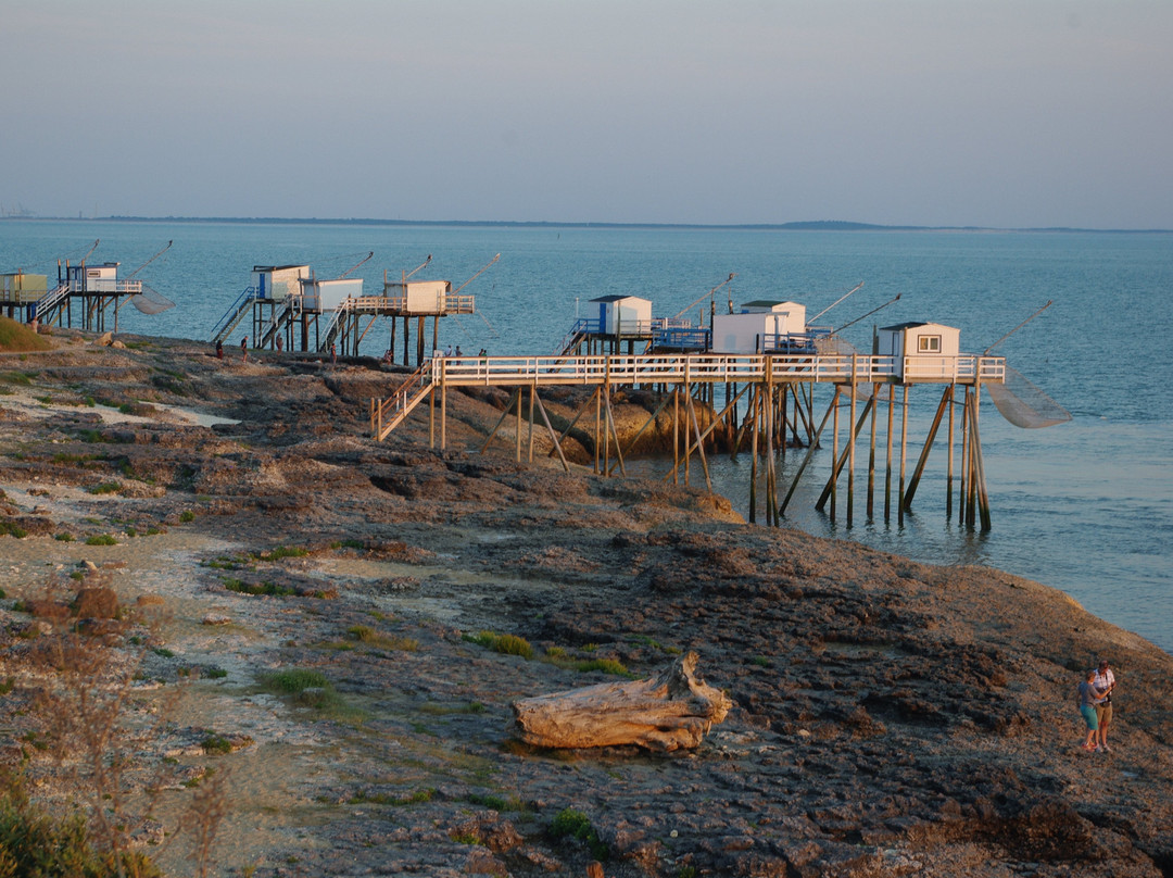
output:
<path id="1" fill-rule="evenodd" d="M 732 702 L 694 676 L 696 667 L 697 654 L 687 653 L 647 680 L 521 698 L 513 704 L 516 732 L 535 747 L 697 747 Z"/>

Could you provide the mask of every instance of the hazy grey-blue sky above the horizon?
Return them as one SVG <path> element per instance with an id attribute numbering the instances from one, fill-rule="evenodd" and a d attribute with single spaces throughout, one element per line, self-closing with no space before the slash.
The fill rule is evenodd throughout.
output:
<path id="1" fill-rule="evenodd" d="M 0 0 L 40 216 L 1173 228 L 1171 0 Z"/>

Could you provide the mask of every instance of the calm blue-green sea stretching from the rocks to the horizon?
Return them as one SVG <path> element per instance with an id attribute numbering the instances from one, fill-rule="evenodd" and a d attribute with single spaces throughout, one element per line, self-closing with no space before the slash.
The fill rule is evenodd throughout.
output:
<path id="1" fill-rule="evenodd" d="M 806 305 L 808 319 L 829 309 L 816 323 L 842 327 L 862 352 L 876 326 L 956 326 L 963 351 L 994 345 L 991 353 L 1071 413 L 1067 423 L 1024 430 L 983 398 L 991 529 L 971 529 L 947 511 L 940 441 L 902 521 L 882 515 L 882 497 L 866 516 L 862 464 L 852 522 L 845 481 L 834 520 L 814 508 L 828 446 L 800 480 L 784 526 L 1026 576 L 1173 651 L 1173 234 L 0 220 L 0 272 L 47 273 L 52 283 L 59 261 L 76 264 L 89 251 L 90 263 L 118 262 L 122 277 L 134 273 L 175 303 L 156 315 L 123 305 L 120 331 L 191 339 L 210 336 L 259 264 L 308 264 L 319 278 L 361 277 L 365 291 L 381 291 L 385 278 L 427 263 L 415 279 L 454 289 L 468 282 L 463 292 L 476 300 L 475 315 L 441 320 L 440 346 L 489 354 L 554 353 L 576 318 L 594 316 L 590 299 L 611 293 L 651 299 L 656 316 L 694 320 L 711 302 L 727 309 L 731 299 L 789 299 Z M 389 325 L 377 323 L 362 352 L 381 356 L 388 344 Z M 829 401 L 821 392 L 816 414 Z M 913 391 L 909 466 L 938 398 L 931 387 Z M 779 458 L 781 485 L 801 458 L 795 450 Z M 710 464 L 714 491 L 747 514 L 748 454 Z M 667 472 L 663 461 L 638 466 Z M 699 467 L 690 478 L 704 484 Z"/>

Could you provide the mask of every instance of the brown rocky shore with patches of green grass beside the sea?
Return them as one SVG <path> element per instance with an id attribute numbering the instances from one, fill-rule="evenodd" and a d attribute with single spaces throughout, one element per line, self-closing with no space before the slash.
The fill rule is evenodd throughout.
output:
<path id="1" fill-rule="evenodd" d="M 39 708 L 87 620 L 120 656 L 93 684 L 133 666 L 116 795 L 168 874 L 1173 873 L 1173 657 L 1062 593 L 481 454 L 491 392 L 449 397 L 440 453 L 422 408 L 369 438 L 375 363 L 120 340 L 0 354 L 0 744 L 84 798 Z M 732 700 L 697 749 L 511 729 L 689 650 Z M 1099 655 L 1111 754 L 1079 748 Z"/>

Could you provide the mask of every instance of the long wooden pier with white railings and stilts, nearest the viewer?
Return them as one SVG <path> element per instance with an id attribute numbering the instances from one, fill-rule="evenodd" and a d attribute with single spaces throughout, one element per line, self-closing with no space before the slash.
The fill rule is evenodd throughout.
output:
<path id="1" fill-rule="evenodd" d="M 689 482 L 693 457 L 700 464 L 710 491 L 706 444 L 719 426 L 734 438 L 732 453 L 738 454 L 746 443 L 752 453 L 750 487 L 750 520 L 758 516 L 757 491 L 759 458 L 765 467 L 765 497 L 761 498 L 766 522 L 778 525 L 785 515 L 799 479 L 808 470 L 814 452 L 827 440 L 830 424 L 832 473 L 816 507 L 829 504 L 834 520 L 839 513 L 840 481 L 846 472 L 846 519 L 855 514 L 856 452 L 866 432 L 868 464 L 866 504 L 867 515 L 875 514 L 876 492 L 876 421 L 887 404 L 887 451 L 883 487 L 883 514 L 891 513 L 895 487 L 895 511 L 900 520 L 911 511 L 913 498 L 924 473 L 929 452 L 942 421 L 948 424 L 948 512 L 952 513 L 954 480 L 960 478 L 958 516 L 967 525 L 990 527 L 989 497 L 978 432 L 978 399 L 983 384 L 1001 384 L 1005 378 L 1005 359 L 979 354 L 925 356 L 865 356 L 865 354 L 687 354 L 650 353 L 616 356 L 544 356 L 544 357 L 434 357 L 404 380 L 389 397 L 371 400 L 371 431 L 384 440 L 425 399 L 429 400 L 429 434 L 433 447 L 447 447 L 448 391 L 460 387 L 510 387 L 514 393 L 496 426 L 482 446 L 491 443 L 504 420 L 517 419 L 515 455 L 522 460 L 523 396 L 529 392 L 528 421 L 530 430 L 528 458 L 534 455 L 534 431 L 540 419 L 552 443 L 554 451 L 569 471 L 562 455 L 562 440 L 570 428 L 595 408 L 594 471 L 611 475 L 618 470 L 625 474 L 624 454 L 612 412 L 612 391 L 646 387 L 663 393 L 660 407 L 631 443 L 655 421 L 669 405 L 672 406 L 673 465 L 665 479 L 679 480 L 683 472 Z M 833 397 L 815 425 L 815 389 L 827 385 Z M 941 389 L 936 416 L 913 465 L 908 466 L 908 406 L 914 386 L 933 385 Z M 590 386 L 590 399 L 575 414 L 570 425 L 557 434 L 541 400 L 540 389 L 550 386 Z M 724 390 L 724 394 L 717 392 Z M 897 400 L 897 391 L 900 399 Z M 955 405 L 962 410 L 961 465 L 955 473 L 954 450 Z M 698 416 L 701 399 L 724 399 L 712 417 Z M 840 447 L 840 411 L 847 410 L 847 435 Z M 900 411 L 899 447 L 896 447 L 896 412 Z M 741 412 L 744 411 L 744 416 Z M 948 416 L 948 418 L 947 418 Z M 703 421 L 705 426 L 703 426 Z M 707 440 L 707 441 L 706 441 Z M 789 487 L 780 498 L 775 468 L 777 453 L 787 447 L 805 446 L 807 453 Z M 899 465 L 894 455 L 899 454 Z M 894 472 L 894 466 L 897 467 Z M 894 477 L 896 479 L 894 485 Z"/>

